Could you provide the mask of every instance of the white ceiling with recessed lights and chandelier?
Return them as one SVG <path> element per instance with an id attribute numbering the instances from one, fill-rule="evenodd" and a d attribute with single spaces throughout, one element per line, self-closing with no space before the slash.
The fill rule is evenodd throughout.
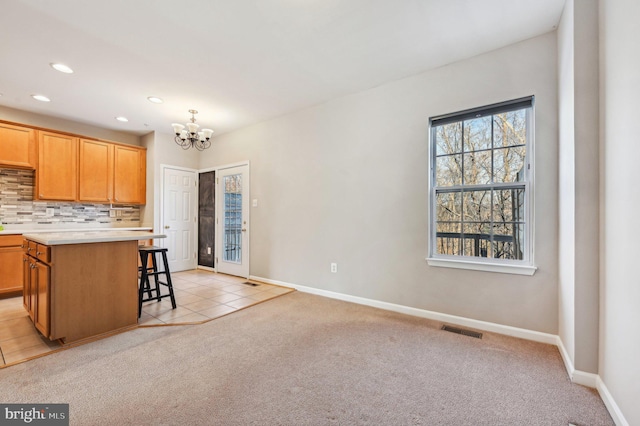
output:
<path id="1" fill-rule="evenodd" d="M 564 1 L 12 0 L 0 105 L 137 135 L 197 109 L 215 136 L 552 31 Z"/>

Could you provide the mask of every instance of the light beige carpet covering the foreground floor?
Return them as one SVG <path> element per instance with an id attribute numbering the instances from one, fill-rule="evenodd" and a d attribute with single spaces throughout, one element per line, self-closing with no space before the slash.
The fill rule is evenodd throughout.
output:
<path id="1" fill-rule="evenodd" d="M 301 292 L 0 371 L 72 425 L 613 425 L 556 347 Z"/>

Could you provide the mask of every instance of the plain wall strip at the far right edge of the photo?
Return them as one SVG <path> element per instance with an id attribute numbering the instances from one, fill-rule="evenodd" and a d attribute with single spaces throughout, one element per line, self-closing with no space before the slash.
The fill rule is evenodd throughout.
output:
<path id="1" fill-rule="evenodd" d="M 603 238 L 600 377 L 630 425 L 640 424 L 637 115 L 640 2 L 600 2 Z"/>

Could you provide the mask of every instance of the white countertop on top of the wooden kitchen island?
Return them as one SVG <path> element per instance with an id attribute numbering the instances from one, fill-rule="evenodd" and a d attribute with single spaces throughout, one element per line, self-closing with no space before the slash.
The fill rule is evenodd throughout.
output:
<path id="1" fill-rule="evenodd" d="M 25 233 L 22 234 L 22 236 L 28 240 L 32 240 L 47 246 L 62 244 L 108 243 L 114 241 L 134 241 L 166 238 L 165 234 L 156 234 L 149 231 L 125 230 L 34 232 Z"/>

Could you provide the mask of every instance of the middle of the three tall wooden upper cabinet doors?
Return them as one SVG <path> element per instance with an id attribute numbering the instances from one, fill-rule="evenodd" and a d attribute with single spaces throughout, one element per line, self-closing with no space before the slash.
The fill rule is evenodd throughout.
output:
<path id="1" fill-rule="evenodd" d="M 80 139 L 78 199 L 113 202 L 113 144 Z"/>

